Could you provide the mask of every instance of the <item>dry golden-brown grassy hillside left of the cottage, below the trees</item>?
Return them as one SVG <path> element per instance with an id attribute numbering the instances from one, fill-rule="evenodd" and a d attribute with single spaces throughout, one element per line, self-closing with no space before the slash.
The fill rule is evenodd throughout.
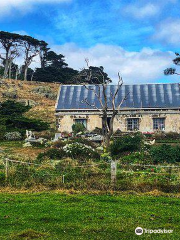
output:
<path id="1" fill-rule="evenodd" d="M 43 93 L 37 92 L 38 88 L 45 89 Z M 29 82 L 19 80 L 0 80 L 0 102 L 15 100 L 32 105 L 31 110 L 26 113 L 29 118 L 36 118 L 55 123 L 54 107 L 59 84 Z M 46 95 L 46 89 L 50 91 L 52 99 Z"/>

